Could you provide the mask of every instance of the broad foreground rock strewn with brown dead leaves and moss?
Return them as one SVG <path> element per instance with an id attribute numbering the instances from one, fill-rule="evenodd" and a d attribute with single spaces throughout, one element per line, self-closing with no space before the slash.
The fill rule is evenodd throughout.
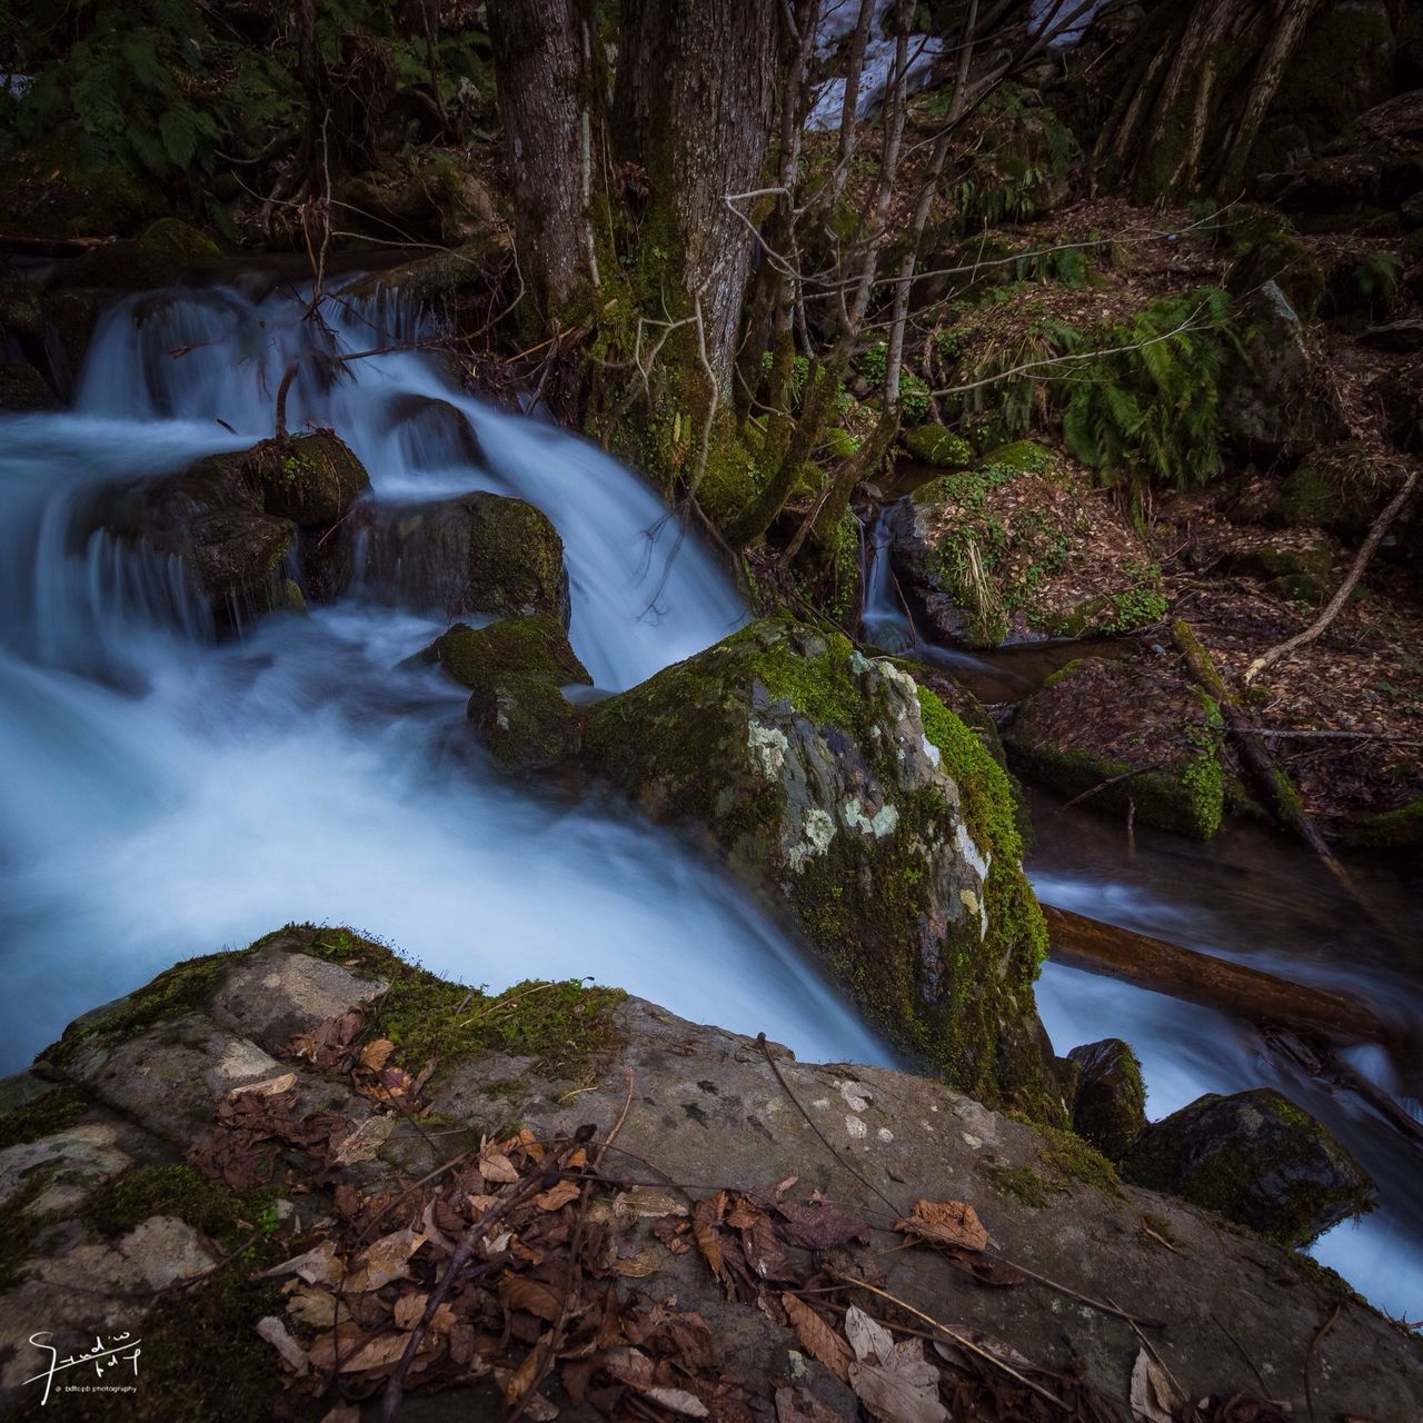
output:
<path id="1" fill-rule="evenodd" d="M 805 1294 L 811 1305 L 827 1298 L 825 1286 L 844 1288 L 822 1264 L 850 1275 L 869 1269 L 881 1288 L 951 1329 L 988 1335 L 1052 1370 L 1037 1375 L 1049 1386 L 1070 1373 L 1101 1395 L 1100 1406 L 1123 1413 L 1138 1338 L 1083 1296 L 1164 1319 L 1150 1331 L 1153 1348 L 1192 1399 L 1251 1395 L 1259 1386 L 1252 1366 L 1272 1396 L 1306 1416 L 1301 1358 L 1315 1339 L 1316 1416 L 1419 1412 L 1417 1340 L 1298 1257 L 1180 1201 L 1120 1187 L 1073 1137 L 1039 1134 L 919 1077 L 797 1063 L 774 1044 L 763 1052 L 608 990 L 529 988 L 487 999 L 346 931 L 289 928 L 249 951 L 191 961 L 73 1025 L 43 1056 L 44 1080 L 6 1084 L 9 1100 L 30 1099 L 0 1117 L 6 1340 L 26 1340 L 43 1322 L 63 1358 L 92 1348 L 97 1333 L 107 1342 L 138 1326 L 142 1358 L 127 1380 L 137 1396 L 127 1402 L 147 1416 L 266 1420 L 276 1406 L 283 1417 L 322 1419 L 337 1400 L 333 1340 L 343 1348 L 343 1396 L 384 1387 L 418 1301 L 484 1208 L 470 1194 L 502 1200 L 522 1185 L 511 1181 L 509 1158 L 552 1150 L 559 1133 L 583 1123 L 602 1140 L 620 1120 L 585 1204 L 586 1174 L 575 1173 L 572 1194 L 549 1194 L 541 1167 L 528 1168 L 545 1204 L 511 1212 L 517 1232 L 451 1292 L 454 1311 L 408 1377 L 403 1419 L 507 1410 L 508 1380 L 558 1316 L 562 1295 L 548 1281 L 558 1279 L 581 1214 L 598 1242 L 585 1257 L 585 1295 L 615 1308 L 565 1319 L 568 1352 L 539 1389 L 545 1417 L 556 1407 L 582 1423 L 630 1400 L 633 1353 L 656 1349 L 657 1321 L 682 1331 L 676 1385 L 720 1397 L 724 1410 L 740 1399 L 746 1410 L 716 1416 L 764 1416 L 777 1387 L 794 1383 L 854 1417 L 850 1389 L 784 1323 L 784 1292 L 807 1278 L 824 1282 Z M 438 1127 L 417 1128 L 411 1111 L 438 1114 Z M 528 1137 L 508 1155 L 480 1154 L 482 1137 L 512 1138 L 519 1124 Z M 773 1183 L 793 1177 L 773 1197 Z M 46 1200 L 55 1183 L 68 1194 Z M 414 1197 L 401 1194 L 407 1187 Z M 689 1229 L 693 1212 L 703 1228 L 717 1221 L 717 1187 L 747 1202 L 739 1205 L 747 1231 L 773 1215 L 787 1231 L 791 1215 L 751 1204 L 778 1198 L 800 1221 L 791 1228 L 810 1232 L 804 1239 L 821 1231 L 844 1239 L 835 1225 L 847 1221 L 865 1228 L 868 1245 L 787 1245 L 777 1259 L 757 1254 L 754 1232 L 712 1224 L 723 1284 Z M 831 1204 L 808 1200 L 815 1191 Z M 1022 1261 L 1077 1298 L 980 1252 L 966 1259 L 996 1271 L 998 1288 L 929 1245 L 904 1248 L 914 1237 L 889 1227 L 915 1200 L 968 1202 L 992 1235 L 993 1259 Z M 730 1272 L 743 1252 L 763 1259 L 766 1274 L 744 1262 Z M 77 1279 L 83 1291 L 71 1288 Z M 885 1318 L 878 1296 L 845 1298 Z M 465 1332 L 471 1309 L 482 1328 Z M 842 1315 L 824 1318 L 838 1336 Z M 1228 1322 L 1249 1366 L 1215 1321 Z M 896 1342 L 922 1348 L 902 1332 L 902 1316 L 891 1323 Z M 595 1340 L 596 1328 L 608 1338 Z M 0 1406 L 48 1416 L 37 1386 L 23 1382 L 47 1358 L 11 1345 Z M 996 1400 L 1032 1416 L 1033 1399 L 1003 1392 L 1015 1389 L 1007 1376 L 989 1370 L 985 1385 L 932 1349 L 919 1358 L 921 1368 L 953 1370 L 985 1407 Z M 105 1382 L 128 1373 L 121 1363 Z M 592 1392 L 576 1403 L 575 1386 Z M 65 1403 L 57 1393 L 50 1413 L 68 1416 Z"/>

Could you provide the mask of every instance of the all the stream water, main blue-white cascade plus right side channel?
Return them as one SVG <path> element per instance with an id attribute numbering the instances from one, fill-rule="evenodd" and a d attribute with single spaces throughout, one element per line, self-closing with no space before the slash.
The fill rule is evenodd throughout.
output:
<path id="1" fill-rule="evenodd" d="M 95 494 L 272 434 L 332 425 L 381 508 L 492 490 L 564 536 L 571 638 L 601 689 L 726 636 L 746 612 L 710 554 L 593 445 L 462 394 L 390 302 L 326 303 L 258 275 L 131 297 L 102 319 L 73 408 L 0 417 L 0 1070 L 90 1007 L 191 953 L 289 921 L 349 924 L 445 976 L 501 989 L 589 975 L 699 1022 L 764 1030 L 801 1057 L 898 1066 L 815 965 L 713 867 L 598 803 L 536 798 L 462 729 L 465 692 L 398 666 L 445 625 L 408 606 L 400 561 L 361 556 L 340 601 L 219 640 L 169 562 L 94 531 Z M 327 383 L 333 353 L 366 353 Z M 431 401 L 441 420 L 423 418 Z M 454 438 L 450 414 L 474 441 Z M 881 564 L 887 561 L 878 561 Z M 912 643 L 888 579 L 877 635 Z M 902 628 L 895 623 L 901 619 Z M 1019 660 L 922 649 L 983 694 Z M 1007 666 L 1009 670 L 1005 670 Z M 992 680 L 996 679 L 996 680 Z M 1231 828 L 1210 847 L 1037 807 L 1044 899 L 1423 1010 L 1416 969 L 1372 942 L 1313 865 Z M 1400 919 L 1417 882 L 1370 872 Z M 1254 1032 L 1059 966 L 1039 989 L 1059 1052 L 1120 1035 L 1161 1116 L 1202 1091 L 1274 1083 L 1375 1174 L 1383 1207 L 1316 1248 L 1376 1303 L 1423 1313 L 1419 1158 L 1346 1097 L 1289 1076 Z M 1385 1064 L 1356 1066 L 1380 1076 Z"/>

